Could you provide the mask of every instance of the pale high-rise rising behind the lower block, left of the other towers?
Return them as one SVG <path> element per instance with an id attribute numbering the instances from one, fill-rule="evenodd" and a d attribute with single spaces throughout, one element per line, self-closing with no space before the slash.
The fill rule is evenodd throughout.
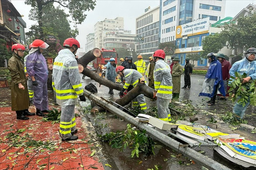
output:
<path id="1" fill-rule="evenodd" d="M 104 48 L 103 38 L 105 33 L 116 29 L 124 29 L 123 17 L 116 17 L 115 19 L 105 18 L 103 21 L 97 22 L 94 25 L 95 47 L 99 49 Z"/>

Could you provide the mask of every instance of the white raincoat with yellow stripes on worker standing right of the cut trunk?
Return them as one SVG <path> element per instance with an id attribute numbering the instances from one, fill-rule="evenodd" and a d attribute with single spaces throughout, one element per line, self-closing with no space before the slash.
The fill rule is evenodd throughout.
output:
<path id="1" fill-rule="evenodd" d="M 154 79 L 155 90 L 157 91 L 156 97 L 172 99 L 173 83 L 171 69 L 162 59 L 158 59 L 155 62 Z"/>

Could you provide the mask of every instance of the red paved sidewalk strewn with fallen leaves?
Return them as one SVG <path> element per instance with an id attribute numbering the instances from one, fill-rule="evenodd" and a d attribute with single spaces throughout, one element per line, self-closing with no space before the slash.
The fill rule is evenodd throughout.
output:
<path id="1" fill-rule="evenodd" d="M 79 144 L 62 142 L 59 123 L 45 122 L 39 116 L 17 120 L 10 107 L 0 107 L 0 119 L 0 170 L 104 170 L 91 151 L 94 144 L 85 143 L 91 139 L 82 117 L 76 117 L 79 139 L 71 141 Z"/>

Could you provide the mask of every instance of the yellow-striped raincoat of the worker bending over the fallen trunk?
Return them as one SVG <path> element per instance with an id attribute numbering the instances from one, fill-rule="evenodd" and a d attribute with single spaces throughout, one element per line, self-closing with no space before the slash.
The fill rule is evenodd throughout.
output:
<path id="1" fill-rule="evenodd" d="M 139 81 L 143 76 L 135 69 L 124 69 L 123 70 L 125 84 L 124 89 L 128 89 L 130 85 L 136 87 Z M 140 106 L 140 110 L 146 110 L 146 99 L 143 94 L 139 94 L 136 99 L 132 101 L 133 106 Z"/>

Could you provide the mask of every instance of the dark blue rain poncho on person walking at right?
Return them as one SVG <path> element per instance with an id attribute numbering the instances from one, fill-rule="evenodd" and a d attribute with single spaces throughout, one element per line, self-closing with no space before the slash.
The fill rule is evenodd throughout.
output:
<path id="1" fill-rule="evenodd" d="M 217 85 L 219 85 L 217 87 Z M 226 96 L 224 82 L 222 79 L 222 68 L 221 63 L 215 58 L 211 63 L 210 67 L 207 70 L 203 85 L 202 91 L 198 96 L 207 96 L 212 98 L 214 96 L 215 89 L 218 88 L 219 92 Z"/>

